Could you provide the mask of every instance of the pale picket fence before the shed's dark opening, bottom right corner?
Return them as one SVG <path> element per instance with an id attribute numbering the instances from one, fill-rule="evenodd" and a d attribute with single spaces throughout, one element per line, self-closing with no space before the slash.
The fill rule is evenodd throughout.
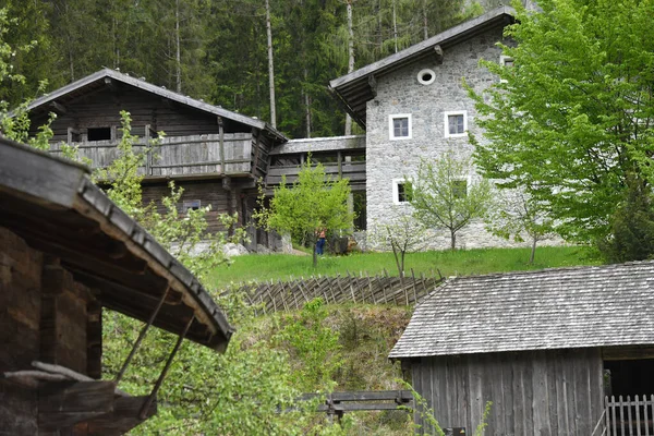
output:
<path id="1" fill-rule="evenodd" d="M 654 395 L 605 397 L 593 436 L 654 436 Z"/>

